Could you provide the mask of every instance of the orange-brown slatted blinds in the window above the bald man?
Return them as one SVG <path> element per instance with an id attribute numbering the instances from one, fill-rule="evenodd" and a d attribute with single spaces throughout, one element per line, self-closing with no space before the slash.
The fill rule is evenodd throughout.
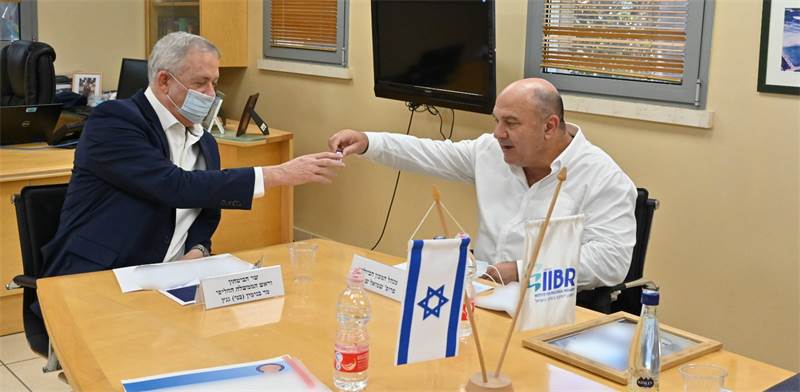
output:
<path id="1" fill-rule="evenodd" d="M 545 0 L 542 71 L 680 84 L 688 0 Z"/>

